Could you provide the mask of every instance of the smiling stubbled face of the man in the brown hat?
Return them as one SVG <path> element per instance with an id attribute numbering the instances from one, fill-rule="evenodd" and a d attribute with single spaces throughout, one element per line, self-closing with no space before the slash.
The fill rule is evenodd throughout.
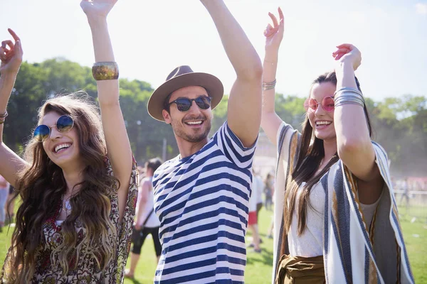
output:
<path id="1" fill-rule="evenodd" d="M 209 97 L 206 89 L 199 86 L 189 86 L 177 89 L 169 97 L 169 102 L 178 98 L 196 99 L 200 96 Z M 191 102 L 188 111 L 179 111 L 176 104 L 170 104 L 169 112 L 162 112 L 164 121 L 172 125 L 176 139 L 197 143 L 207 138 L 211 131 L 212 109 L 200 109 L 196 102 Z"/>

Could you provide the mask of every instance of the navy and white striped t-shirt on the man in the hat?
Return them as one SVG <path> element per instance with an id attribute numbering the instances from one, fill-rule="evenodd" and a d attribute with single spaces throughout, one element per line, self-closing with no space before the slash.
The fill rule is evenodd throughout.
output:
<path id="1" fill-rule="evenodd" d="M 193 155 L 154 173 L 162 256 L 154 283 L 243 283 L 255 144 L 227 123 Z"/>

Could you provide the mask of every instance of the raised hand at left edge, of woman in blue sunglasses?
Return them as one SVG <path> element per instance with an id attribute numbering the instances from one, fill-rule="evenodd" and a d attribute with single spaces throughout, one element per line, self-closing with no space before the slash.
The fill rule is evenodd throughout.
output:
<path id="1" fill-rule="evenodd" d="M 10 28 L 8 28 L 9 33 L 15 40 L 15 43 L 12 40 L 3 40 L 0 47 L 0 73 L 4 74 L 6 72 L 15 72 L 18 73 L 19 67 L 22 62 L 22 47 L 21 40 L 18 35 Z"/>

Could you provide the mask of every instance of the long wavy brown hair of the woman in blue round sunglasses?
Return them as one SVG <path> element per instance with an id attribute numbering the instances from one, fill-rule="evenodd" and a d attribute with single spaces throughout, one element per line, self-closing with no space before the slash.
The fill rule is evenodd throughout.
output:
<path id="1" fill-rule="evenodd" d="M 38 121 L 44 115 L 54 111 L 60 115 L 67 114 L 74 120 L 78 131 L 80 158 L 85 168 L 82 169 L 83 182 L 80 190 L 70 199 L 73 210 L 62 224 L 60 234 L 63 244 L 51 252 L 58 256 L 64 275 L 75 269 L 79 261 L 79 251 L 83 245 L 92 249 L 95 263 L 99 269 L 105 268 L 110 259 L 114 259 L 116 236 L 115 225 L 110 220 L 110 196 L 117 192 L 118 180 L 107 174 L 105 157 L 107 148 L 102 132 L 102 124 L 97 106 L 90 102 L 85 94 L 68 94 L 49 99 L 38 111 Z M 25 148 L 24 158 L 28 166 L 19 173 L 16 182 L 15 197 L 22 200 L 16 212 L 16 226 L 12 235 L 11 251 L 6 259 L 5 278 L 11 283 L 27 283 L 36 268 L 37 252 L 43 245 L 43 223 L 55 216 L 66 190 L 62 169 L 48 158 L 42 143 L 31 139 Z M 90 204 L 90 206 L 88 206 Z M 79 220 L 86 234 L 78 241 L 75 222 Z M 110 230 L 109 230 L 110 229 Z M 112 232 L 111 236 L 109 231 Z M 70 263 L 70 259 L 73 259 Z"/>

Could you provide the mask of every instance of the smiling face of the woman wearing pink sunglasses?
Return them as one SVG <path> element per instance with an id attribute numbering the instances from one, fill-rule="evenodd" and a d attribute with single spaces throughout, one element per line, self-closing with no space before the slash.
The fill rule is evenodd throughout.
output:
<path id="1" fill-rule="evenodd" d="M 313 84 L 310 98 L 315 99 L 317 103 L 322 102 L 323 98 L 334 96 L 336 89 L 337 87 L 331 82 Z M 322 105 L 318 104 L 315 111 L 307 112 L 307 116 L 317 138 L 324 141 L 337 138 L 334 128 L 334 111 L 325 111 Z"/>

